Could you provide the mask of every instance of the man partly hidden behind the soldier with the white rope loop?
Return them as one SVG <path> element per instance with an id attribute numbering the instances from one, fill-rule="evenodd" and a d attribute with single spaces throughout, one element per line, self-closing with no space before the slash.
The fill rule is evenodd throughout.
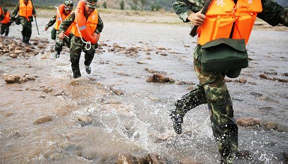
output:
<path id="1" fill-rule="evenodd" d="M 67 30 L 67 36 L 64 37 L 63 40 L 59 39 L 59 26 L 61 22 L 63 22 L 67 16 L 69 16 L 72 12 L 73 9 L 73 2 L 71 0 L 67 0 L 64 2 L 64 4 L 61 4 L 58 8 L 56 13 L 52 16 L 52 18 L 49 20 L 48 24 L 45 26 L 44 30 L 47 31 L 49 27 L 51 27 L 55 22 L 55 28 L 52 30 L 52 33 L 56 32 L 56 37 L 52 39 L 56 39 L 56 45 L 55 45 L 55 58 L 59 58 L 60 53 L 63 49 L 64 42 L 70 48 L 70 38 L 69 38 L 69 33 L 70 29 Z M 52 34 L 54 35 L 54 34 Z M 55 35 L 54 35 L 55 36 Z"/>

